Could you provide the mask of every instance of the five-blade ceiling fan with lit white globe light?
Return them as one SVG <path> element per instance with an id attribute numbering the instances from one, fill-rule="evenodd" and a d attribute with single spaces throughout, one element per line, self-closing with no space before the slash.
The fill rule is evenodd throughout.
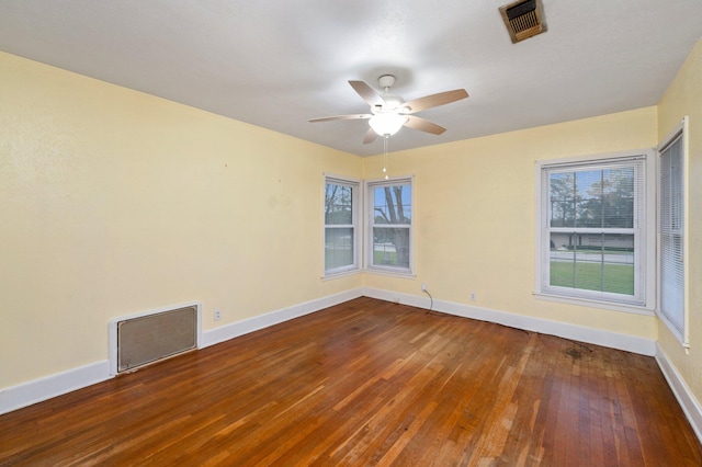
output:
<path id="1" fill-rule="evenodd" d="M 428 119 L 414 115 L 417 112 L 450 104 L 468 96 L 465 89 L 454 89 L 453 91 L 439 92 L 426 95 L 409 102 L 390 93 L 390 88 L 395 84 L 393 75 L 383 75 L 377 80 L 383 93 L 378 94 L 373 88 L 363 81 L 349 81 L 351 88 L 370 106 L 370 114 L 335 115 L 321 118 L 310 118 L 309 122 L 331 122 L 337 119 L 369 119 L 370 128 L 363 138 L 363 144 L 374 141 L 378 136 L 390 136 L 397 133 L 403 126 L 418 129 L 420 132 L 441 135 L 446 128 L 429 122 Z"/>

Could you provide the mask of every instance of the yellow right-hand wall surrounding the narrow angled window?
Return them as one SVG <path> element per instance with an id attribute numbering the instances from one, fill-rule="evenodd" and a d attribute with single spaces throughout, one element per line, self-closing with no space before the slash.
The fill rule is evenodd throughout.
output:
<path id="1" fill-rule="evenodd" d="M 690 312 L 690 353 L 686 354 L 679 341 L 664 324 L 660 326 L 659 345 L 676 366 L 698 400 L 702 400 L 702 39 L 679 70 L 658 112 L 658 138 L 668 135 L 689 116 L 688 166 L 688 291 Z"/>

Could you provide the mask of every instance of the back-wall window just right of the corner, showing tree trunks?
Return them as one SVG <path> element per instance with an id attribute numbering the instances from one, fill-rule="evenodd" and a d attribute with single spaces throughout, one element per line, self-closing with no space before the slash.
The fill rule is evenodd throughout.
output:
<path id="1" fill-rule="evenodd" d="M 412 273 L 412 180 L 370 182 L 369 267 Z"/>

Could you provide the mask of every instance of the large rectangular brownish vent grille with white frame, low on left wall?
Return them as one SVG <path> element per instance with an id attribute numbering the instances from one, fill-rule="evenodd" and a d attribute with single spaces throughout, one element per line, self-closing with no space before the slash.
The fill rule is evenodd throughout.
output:
<path id="1" fill-rule="evenodd" d="M 113 374 L 197 348 L 200 307 L 189 305 L 151 311 L 111 322 Z"/>

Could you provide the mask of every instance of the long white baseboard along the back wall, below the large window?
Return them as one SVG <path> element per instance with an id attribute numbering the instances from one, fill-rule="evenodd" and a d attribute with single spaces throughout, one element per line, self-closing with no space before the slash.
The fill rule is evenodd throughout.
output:
<path id="1" fill-rule="evenodd" d="M 398 301 L 405 305 L 426 309 L 429 309 L 431 303 L 428 296 L 420 297 L 417 295 L 399 294 L 371 287 L 363 288 L 363 295 L 366 297 L 378 298 L 387 301 Z M 514 315 L 511 312 L 497 311 L 445 300 L 434 299 L 433 310 L 643 355 L 656 355 L 656 341 L 653 339 L 637 338 L 635 335 L 620 334 L 616 332 L 603 331 L 601 329 L 585 328 L 576 324 Z"/>

